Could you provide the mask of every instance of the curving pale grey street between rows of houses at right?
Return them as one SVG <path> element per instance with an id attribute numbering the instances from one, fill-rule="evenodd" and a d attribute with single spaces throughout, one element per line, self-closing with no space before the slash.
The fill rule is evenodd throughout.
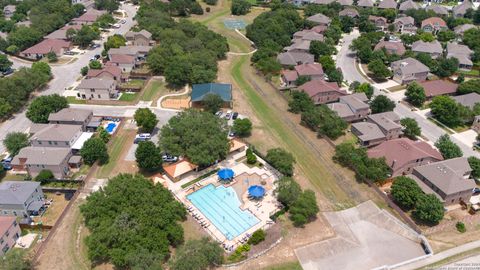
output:
<path id="1" fill-rule="evenodd" d="M 337 67 L 342 69 L 344 79 L 347 80 L 349 83 L 353 81 L 368 82 L 362 76 L 362 74 L 360 74 L 360 72 L 357 70 L 355 53 L 349 49 L 352 41 L 359 36 L 360 36 L 360 33 L 358 32 L 358 30 L 354 30 L 350 34 L 345 35 L 343 37 L 342 48 L 339 50 L 337 54 Z M 380 95 L 380 94 L 386 95 L 390 99 L 398 102 L 398 97 L 396 97 L 392 93 L 381 91 L 381 89 L 377 87 L 374 87 L 374 89 L 375 89 L 374 95 Z M 445 130 L 443 130 L 442 128 L 438 127 L 437 125 L 432 123 L 430 120 L 425 118 L 424 115 L 413 112 L 408 106 L 404 104 L 397 103 L 397 106 L 395 107 L 394 111 L 401 118 L 406 118 L 406 117 L 414 118 L 418 122 L 418 125 L 420 126 L 420 128 L 422 129 L 422 135 L 425 136 L 432 143 L 436 142 L 440 136 L 447 133 Z M 472 146 L 466 145 L 464 142 L 454 138 L 453 136 L 450 136 L 450 139 L 462 149 L 464 156 L 480 157 L 480 153 L 478 153 L 477 151 L 474 151 L 472 149 Z"/>

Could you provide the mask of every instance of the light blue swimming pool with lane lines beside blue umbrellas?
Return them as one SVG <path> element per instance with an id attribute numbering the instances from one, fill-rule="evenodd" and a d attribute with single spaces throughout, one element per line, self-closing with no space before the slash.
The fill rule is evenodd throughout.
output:
<path id="1" fill-rule="evenodd" d="M 228 240 L 239 236 L 260 220 L 249 211 L 240 209 L 240 201 L 232 187 L 213 184 L 187 196 L 195 207 L 220 230 Z"/>

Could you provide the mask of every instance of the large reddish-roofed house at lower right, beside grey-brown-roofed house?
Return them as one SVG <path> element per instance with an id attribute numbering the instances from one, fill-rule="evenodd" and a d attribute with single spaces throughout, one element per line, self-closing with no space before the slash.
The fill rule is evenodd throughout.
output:
<path id="1" fill-rule="evenodd" d="M 389 140 L 367 151 L 370 158 L 385 158 L 392 177 L 410 174 L 413 168 L 443 160 L 442 154 L 423 141 L 407 138 Z"/>

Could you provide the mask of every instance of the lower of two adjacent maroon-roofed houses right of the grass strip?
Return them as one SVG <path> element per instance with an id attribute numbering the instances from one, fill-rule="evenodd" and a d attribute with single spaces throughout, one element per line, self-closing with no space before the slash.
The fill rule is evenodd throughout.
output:
<path id="1" fill-rule="evenodd" d="M 347 94 L 345 91 L 340 90 L 336 82 L 325 82 L 323 80 L 306 82 L 298 89 L 307 93 L 315 104 L 335 102 L 339 97 Z"/>

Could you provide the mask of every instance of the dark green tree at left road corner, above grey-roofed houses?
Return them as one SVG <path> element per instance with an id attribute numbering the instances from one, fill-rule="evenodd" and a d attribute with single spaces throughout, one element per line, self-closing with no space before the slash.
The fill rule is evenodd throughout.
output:
<path id="1" fill-rule="evenodd" d="M 58 94 L 35 98 L 27 109 L 27 118 L 34 123 L 48 123 L 50 113 L 68 108 L 68 101 Z"/>

